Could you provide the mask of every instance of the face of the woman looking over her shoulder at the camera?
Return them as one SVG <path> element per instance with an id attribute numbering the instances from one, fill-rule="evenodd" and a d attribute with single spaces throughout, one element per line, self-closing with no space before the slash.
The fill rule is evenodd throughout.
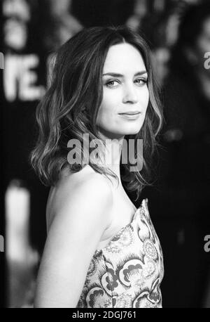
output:
<path id="1" fill-rule="evenodd" d="M 110 47 L 103 70 L 103 99 L 97 125 L 105 138 L 137 134 L 144 123 L 149 93 L 141 53 L 130 44 Z"/>

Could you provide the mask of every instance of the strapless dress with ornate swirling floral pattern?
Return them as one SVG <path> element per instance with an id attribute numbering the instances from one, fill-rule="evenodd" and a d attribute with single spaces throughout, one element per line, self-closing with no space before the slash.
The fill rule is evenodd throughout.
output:
<path id="1" fill-rule="evenodd" d="M 162 307 L 163 276 L 162 249 L 144 199 L 131 223 L 94 252 L 77 307 Z"/>

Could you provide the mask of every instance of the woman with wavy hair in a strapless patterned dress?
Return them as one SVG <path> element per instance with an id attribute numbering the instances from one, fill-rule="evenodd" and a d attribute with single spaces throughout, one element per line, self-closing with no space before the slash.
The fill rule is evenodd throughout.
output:
<path id="1" fill-rule="evenodd" d="M 151 63 L 144 39 L 126 27 L 82 30 L 57 52 L 31 155 L 52 186 L 34 307 L 162 305 L 162 251 L 147 200 L 136 209 L 120 176 L 124 157 L 122 179 L 139 197 L 162 121 Z"/>

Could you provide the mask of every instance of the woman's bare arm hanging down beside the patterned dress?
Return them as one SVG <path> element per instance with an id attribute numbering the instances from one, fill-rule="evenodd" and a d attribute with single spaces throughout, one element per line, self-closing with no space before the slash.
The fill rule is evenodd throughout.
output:
<path id="1" fill-rule="evenodd" d="M 87 176 L 66 194 L 45 243 L 34 307 L 76 307 L 111 206 L 111 187 L 100 174 Z"/>

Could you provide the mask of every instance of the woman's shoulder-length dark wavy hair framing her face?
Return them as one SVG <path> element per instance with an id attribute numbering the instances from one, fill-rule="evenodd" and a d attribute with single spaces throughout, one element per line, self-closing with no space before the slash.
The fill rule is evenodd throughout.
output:
<path id="1" fill-rule="evenodd" d="M 63 168 L 78 172 L 87 164 L 84 161 L 80 165 L 70 165 L 67 144 L 70 139 L 83 143 L 83 134 L 89 134 L 90 141 L 100 139 L 97 115 L 103 97 L 104 62 L 109 48 L 122 43 L 131 44 L 141 53 L 148 72 L 149 91 L 148 108 L 141 130 L 138 134 L 125 136 L 126 140 L 143 139 L 143 169 L 141 172 L 130 172 L 128 161 L 121 165 L 122 179 L 128 191 L 137 192 L 137 198 L 142 188 L 150 184 L 151 156 L 158 145 L 155 138 L 162 127 L 162 108 L 153 75 L 152 53 L 144 38 L 136 32 L 125 26 L 111 26 L 83 29 L 55 53 L 50 87 L 36 109 L 38 139 L 29 157 L 34 171 L 45 186 L 55 186 Z M 80 153 L 86 160 L 83 148 Z M 139 157 L 137 147 L 135 156 Z M 111 169 L 95 164 L 91 158 L 89 165 L 96 172 L 118 179 Z"/>

